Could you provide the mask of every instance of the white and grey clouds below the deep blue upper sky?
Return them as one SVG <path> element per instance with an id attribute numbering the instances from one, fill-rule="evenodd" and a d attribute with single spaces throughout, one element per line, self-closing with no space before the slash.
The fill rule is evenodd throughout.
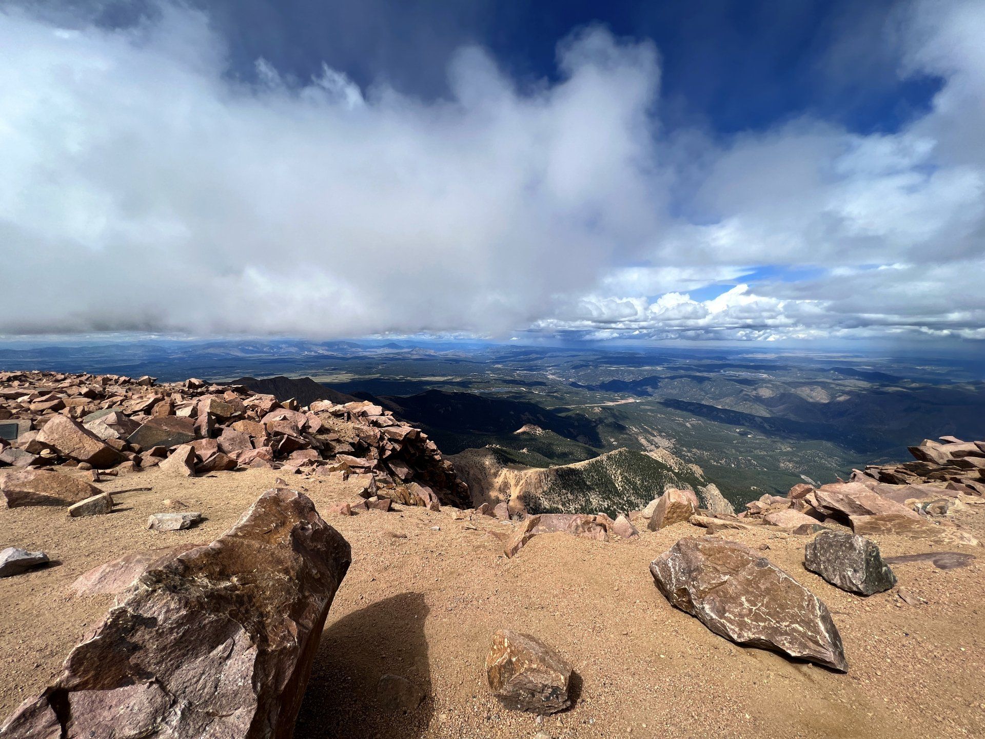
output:
<path id="1" fill-rule="evenodd" d="M 0 11 L 0 333 L 985 338 L 981 3 L 886 35 L 945 81 L 904 129 L 727 141 L 664 135 L 657 49 L 603 28 L 554 84 L 460 49 L 422 101 L 237 81 L 205 15 L 161 11 Z"/>

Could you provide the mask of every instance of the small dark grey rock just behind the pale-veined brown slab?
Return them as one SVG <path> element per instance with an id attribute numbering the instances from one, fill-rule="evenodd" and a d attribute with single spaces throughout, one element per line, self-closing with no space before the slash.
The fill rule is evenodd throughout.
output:
<path id="1" fill-rule="evenodd" d="M 861 595 L 881 593 L 896 584 L 879 547 L 847 531 L 822 531 L 808 542 L 804 566 L 832 585 Z"/>

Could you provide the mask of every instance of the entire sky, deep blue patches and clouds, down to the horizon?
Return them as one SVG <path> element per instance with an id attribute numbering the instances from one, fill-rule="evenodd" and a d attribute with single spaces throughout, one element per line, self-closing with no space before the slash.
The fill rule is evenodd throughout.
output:
<path id="1" fill-rule="evenodd" d="M 0 335 L 985 339 L 980 0 L 8 0 Z"/>

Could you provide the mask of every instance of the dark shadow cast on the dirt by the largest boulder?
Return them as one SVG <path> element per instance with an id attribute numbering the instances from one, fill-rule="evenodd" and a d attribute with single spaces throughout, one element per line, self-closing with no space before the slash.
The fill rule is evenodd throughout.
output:
<path id="1" fill-rule="evenodd" d="M 328 623 L 297 713 L 296 739 L 413 739 L 433 714 L 422 593 L 394 595 Z M 377 698 L 383 675 L 406 678 L 425 695 L 417 709 L 386 710 Z"/>

